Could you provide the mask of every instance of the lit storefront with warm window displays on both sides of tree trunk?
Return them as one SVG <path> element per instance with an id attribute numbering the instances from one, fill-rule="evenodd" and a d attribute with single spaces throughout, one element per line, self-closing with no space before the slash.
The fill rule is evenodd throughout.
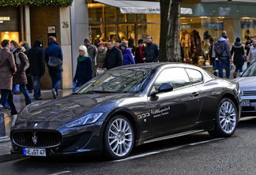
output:
<path id="1" fill-rule="evenodd" d="M 108 39 L 122 39 L 129 47 L 137 47 L 137 40 L 144 39 L 146 42 L 147 35 L 153 36 L 154 43 L 160 43 L 160 2 L 151 2 L 155 3 L 155 8 L 149 8 L 148 13 L 130 13 L 110 2 L 114 1 L 88 2 L 88 33 L 94 44 L 107 42 Z M 182 4 L 182 8 L 190 9 L 190 13 L 181 14 L 180 43 L 185 57 L 193 64 L 198 64 L 200 57 L 207 59 L 209 38 L 220 39 L 223 30 L 228 33 L 230 47 L 236 37 L 246 43 L 248 35 L 256 35 L 256 2 L 191 2 L 195 1 L 184 1 Z M 126 1 L 122 3 L 126 7 Z M 134 9 L 140 6 L 136 2 L 133 4 Z"/>

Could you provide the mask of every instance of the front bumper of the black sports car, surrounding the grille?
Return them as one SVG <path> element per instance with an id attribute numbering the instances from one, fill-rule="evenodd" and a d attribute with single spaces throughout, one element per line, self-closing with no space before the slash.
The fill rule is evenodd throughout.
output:
<path id="1" fill-rule="evenodd" d="M 102 152 L 100 142 L 100 125 L 88 125 L 77 128 L 66 128 L 62 126 L 58 128 L 58 132 L 62 134 L 62 141 L 54 147 L 30 147 L 45 149 L 47 155 L 96 155 Z M 42 132 L 47 129 L 26 129 L 31 132 Z M 23 154 L 23 148 L 27 146 L 18 145 L 13 140 L 13 132 L 24 130 L 15 130 L 11 132 L 12 154 Z M 31 138 L 32 140 L 32 138 Z"/>

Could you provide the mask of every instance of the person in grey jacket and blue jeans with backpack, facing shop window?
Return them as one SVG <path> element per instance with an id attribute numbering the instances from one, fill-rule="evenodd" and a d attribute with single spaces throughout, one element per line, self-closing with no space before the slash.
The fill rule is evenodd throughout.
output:
<path id="1" fill-rule="evenodd" d="M 226 65 L 226 78 L 230 77 L 230 67 L 232 60 L 232 54 L 230 52 L 230 47 L 228 44 L 227 39 L 225 37 L 227 36 L 227 32 L 222 32 L 222 37 L 220 37 L 220 40 L 218 40 L 215 44 L 215 53 L 218 57 L 219 61 L 219 76 L 223 78 L 223 67 Z"/>

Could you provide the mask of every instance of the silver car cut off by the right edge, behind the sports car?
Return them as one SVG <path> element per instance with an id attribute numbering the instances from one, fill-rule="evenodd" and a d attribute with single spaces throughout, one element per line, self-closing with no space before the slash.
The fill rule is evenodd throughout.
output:
<path id="1" fill-rule="evenodd" d="M 242 92 L 242 117 L 255 116 L 256 113 L 256 61 L 241 76 L 236 78 Z"/>

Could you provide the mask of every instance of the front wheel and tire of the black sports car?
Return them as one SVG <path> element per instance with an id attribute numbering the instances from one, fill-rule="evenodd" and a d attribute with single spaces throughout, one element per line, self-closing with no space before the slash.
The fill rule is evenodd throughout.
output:
<path id="1" fill-rule="evenodd" d="M 130 121 L 122 115 L 111 117 L 104 132 L 104 152 L 107 158 L 126 158 L 133 147 L 134 129 Z"/>

